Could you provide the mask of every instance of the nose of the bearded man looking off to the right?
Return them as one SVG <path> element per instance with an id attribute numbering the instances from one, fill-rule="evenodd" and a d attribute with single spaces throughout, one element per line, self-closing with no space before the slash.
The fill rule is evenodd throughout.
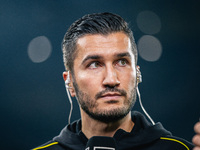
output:
<path id="1" fill-rule="evenodd" d="M 103 86 L 105 87 L 115 87 L 120 84 L 118 79 L 118 74 L 113 66 L 107 67 L 105 69 L 105 75 L 103 80 Z"/>

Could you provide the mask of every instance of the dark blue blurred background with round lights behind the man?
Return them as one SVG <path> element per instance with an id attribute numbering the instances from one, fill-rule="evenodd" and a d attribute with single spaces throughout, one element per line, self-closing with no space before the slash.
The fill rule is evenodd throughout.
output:
<path id="1" fill-rule="evenodd" d="M 144 107 L 191 141 L 200 117 L 199 6 L 197 0 L 1 0 L 1 149 L 31 149 L 67 124 L 62 38 L 78 18 L 105 11 L 121 15 L 134 32 Z M 80 118 L 73 102 L 72 121 Z M 133 110 L 141 111 L 138 101 Z"/>

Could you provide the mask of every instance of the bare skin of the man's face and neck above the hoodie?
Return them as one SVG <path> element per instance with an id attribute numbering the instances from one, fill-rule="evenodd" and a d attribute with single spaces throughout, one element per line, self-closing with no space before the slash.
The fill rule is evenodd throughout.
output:
<path id="1" fill-rule="evenodd" d="M 129 38 L 122 32 L 85 35 L 77 41 L 77 50 L 70 93 L 79 101 L 82 131 L 88 138 L 113 136 L 119 128 L 130 132 L 134 125 L 130 109 L 135 101 L 136 68 Z M 67 74 L 63 73 L 64 80 Z M 106 90 L 114 87 L 118 90 Z M 83 103 L 93 114 L 126 113 L 114 122 L 102 121 L 91 117 Z"/>

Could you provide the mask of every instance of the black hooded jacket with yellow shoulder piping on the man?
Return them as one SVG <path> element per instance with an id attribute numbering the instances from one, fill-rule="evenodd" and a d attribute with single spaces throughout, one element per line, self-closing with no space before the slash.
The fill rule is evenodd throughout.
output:
<path id="1" fill-rule="evenodd" d="M 130 133 L 119 129 L 114 140 L 118 150 L 192 150 L 186 140 L 172 136 L 161 123 L 152 125 L 139 112 L 132 112 L 135 123 Z M 88 139 L 81 131 L 81 120 L 67 125 L 60 135 L 33 150 L 85 150 Z"/>

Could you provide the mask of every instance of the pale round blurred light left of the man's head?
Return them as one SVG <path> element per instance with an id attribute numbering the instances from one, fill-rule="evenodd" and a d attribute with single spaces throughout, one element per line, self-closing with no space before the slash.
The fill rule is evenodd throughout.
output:
<path id="1" fill-rule="evenodd" d="M 28 56 L 34 63 L 41 63 L 51 55 L 51 42 L 45 36 L 32 39 L 28 45 Z"/>

